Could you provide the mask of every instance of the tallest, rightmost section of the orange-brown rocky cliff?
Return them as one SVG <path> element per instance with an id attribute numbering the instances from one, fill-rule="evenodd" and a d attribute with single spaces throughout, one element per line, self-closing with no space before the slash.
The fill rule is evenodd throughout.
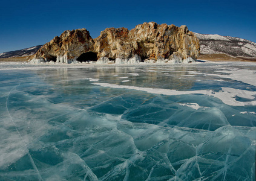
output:
<path id="1" fill-rule="evenodd" d="M 183 25 L 158 25 L 155 22 L 137 25 L 130 31 L 134 53 L 142 59 L 172 59 L 176 55 L 182 59 L 199 56 L 199 40 Z"/>

